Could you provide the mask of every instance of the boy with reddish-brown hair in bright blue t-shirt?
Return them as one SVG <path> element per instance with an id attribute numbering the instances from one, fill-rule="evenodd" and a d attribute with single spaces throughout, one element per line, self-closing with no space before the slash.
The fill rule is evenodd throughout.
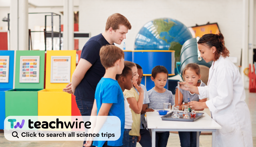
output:
<path id="1" fill-rule="evenodd" d="M 94 141 L 93 146 L 122 146 L 124 132 L 124 99 L 116 75 L 121 74 L 124 68 L 124 53 L 122 49 L 114 45 L 102 46 L 100 49 L 101 64 L 105 67 L 105 75 L 99 81 L 91 116 L 117 116 L 121 122 L 121 136 L 116 141 Z M 93 120 L 90 132 L 97 134 L 105 121 Z M 84 146 L 91 146 L 92 141 L 87 139 Z"/>

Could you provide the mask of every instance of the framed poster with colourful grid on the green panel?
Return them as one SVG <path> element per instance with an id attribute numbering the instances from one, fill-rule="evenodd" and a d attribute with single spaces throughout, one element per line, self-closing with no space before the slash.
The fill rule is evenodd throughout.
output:
<path id="1" fill-rule="evenodd" d="M 39 83 L 40 56 L 20 56 L 20 83 Z"/>

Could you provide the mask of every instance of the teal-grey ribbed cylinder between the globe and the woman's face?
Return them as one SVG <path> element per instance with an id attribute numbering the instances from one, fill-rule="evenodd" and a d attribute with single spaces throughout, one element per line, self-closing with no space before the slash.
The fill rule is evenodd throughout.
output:
<path id="1" fill-rule="evenodd" d="M 192 38 L 187 40 L 182 48 L 180 53 L 180 73 L 182 74 L 183 69 L 185 66 L 189 63 L 196 63 L 198 65 L 204 65 L 206 67 L 211 67 L 212 61 L 206 63 L 204 59 L 199 59 L 198 57 L 200 54 L 198 54 L 198 47 L 197 47 L 197 39 Z"/>

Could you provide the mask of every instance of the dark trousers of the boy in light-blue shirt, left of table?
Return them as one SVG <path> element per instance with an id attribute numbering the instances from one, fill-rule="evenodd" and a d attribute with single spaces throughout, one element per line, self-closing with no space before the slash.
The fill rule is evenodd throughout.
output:
<path id="1" fill-rule="evenodd" d="M 141 136 L 139 144 L 142 147 L 152 147 L 152 140 L 149 131 L 147 129 L 140 129 L 139 133 Z"/>

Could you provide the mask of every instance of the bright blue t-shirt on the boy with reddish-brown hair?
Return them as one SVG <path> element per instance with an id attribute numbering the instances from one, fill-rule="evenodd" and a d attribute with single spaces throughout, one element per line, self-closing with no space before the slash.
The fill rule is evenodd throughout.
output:
<path id="1" fill-rule="evenodd" d="M 101 78 L 96 91 L 95 99 L 97 103 L 97 115 L 102 103 L 112 103 L 108 116 L 117 116 L 121 121 L 121 136 L 116 141 L 108 141 L 108 146 L 122 146 L 124 132 L 124 98 L 123 91 L 117 80 Z M 105 141 L 94 141 L 93 146 L 102 147 Z"/>

